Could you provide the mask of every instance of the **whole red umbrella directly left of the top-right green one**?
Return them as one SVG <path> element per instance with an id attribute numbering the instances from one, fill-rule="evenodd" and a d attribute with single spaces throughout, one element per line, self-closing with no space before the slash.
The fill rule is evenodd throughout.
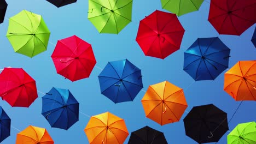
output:
<path id="1" fill-rule="evenodd" d="M 176 14 L 156 10 L 139 22 L 136 41 L 146 56 L 164 59 L 179 50 L 184 32 Z"/>

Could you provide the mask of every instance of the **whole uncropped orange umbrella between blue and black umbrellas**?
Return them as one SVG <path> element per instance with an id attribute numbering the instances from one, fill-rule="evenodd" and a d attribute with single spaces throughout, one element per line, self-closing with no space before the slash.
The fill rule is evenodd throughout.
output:
<path id="1" fill-rule="evenodd" d="M 178 122 L 188 107 L 183 89 L 168 81 L 149 86 L 141 102 L 146 117 L 160 125 Z"/>

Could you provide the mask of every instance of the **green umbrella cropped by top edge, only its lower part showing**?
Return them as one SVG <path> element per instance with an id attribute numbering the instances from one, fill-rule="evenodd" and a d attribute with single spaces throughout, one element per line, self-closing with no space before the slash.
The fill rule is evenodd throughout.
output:
<path id="1" fill-rule="evenodd" d="M 199 10 L 204 0 L 161 0 L 162 8 L 181 16 Z"/>

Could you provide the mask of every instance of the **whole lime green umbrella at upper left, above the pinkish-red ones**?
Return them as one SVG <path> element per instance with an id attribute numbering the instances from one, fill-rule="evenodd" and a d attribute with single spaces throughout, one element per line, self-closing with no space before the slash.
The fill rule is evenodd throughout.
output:
<path id="1" fill-rule="evenodd" d="M 33 57 L 46 51 L 50 31 L 41 15 L 22 10 L 19 14 L 10 17 L 6 37 L 15 52 Z"/>

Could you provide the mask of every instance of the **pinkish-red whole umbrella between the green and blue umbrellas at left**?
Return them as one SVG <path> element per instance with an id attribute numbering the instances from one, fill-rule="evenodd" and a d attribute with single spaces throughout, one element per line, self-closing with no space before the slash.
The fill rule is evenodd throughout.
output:
<path id="1" fill-rule="evenodd" d="M 89 77 L 96 64 L 91 44 L 76 35 L 58 40 L 51 58 L 57 73 L 71 81 Z"/>

